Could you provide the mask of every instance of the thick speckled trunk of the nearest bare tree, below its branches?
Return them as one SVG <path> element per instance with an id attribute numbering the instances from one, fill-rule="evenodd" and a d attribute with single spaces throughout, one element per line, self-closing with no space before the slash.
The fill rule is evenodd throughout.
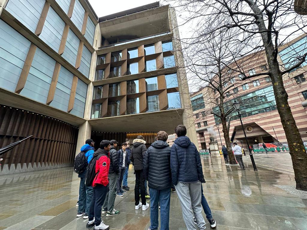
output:
<path id="1" fill-rule="evenodd" d="M 277 62 L 272 62 L 270 73 L 277 110 L 289 145 L 290 155 L 296 181 L 296 189 L 307 191 L 307 154 L 301 134 L 298 131 L 291 108 L 288 94 L 283 84 L 282 73 Z"/>

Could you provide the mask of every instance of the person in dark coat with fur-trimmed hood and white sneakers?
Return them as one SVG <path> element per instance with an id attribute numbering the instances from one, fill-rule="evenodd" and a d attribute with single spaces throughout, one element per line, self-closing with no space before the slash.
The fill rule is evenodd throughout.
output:
<path id="1" fill-rule="evenodd" d="M 144 137 L 139 135 L 137 139 L 133 140 L 133 147 L 130 153 L 130 161 L 134 165 L 135 172 L 135 188 L 134 188 L 134 199 L 135 199 L 135 209 L 139 209 L 142 206 L 142 210 L 145 211 L 149 208 L 149 204 L 146 203 L 145 197 L 145 177 L 143 173 L 143 157 L 146 153 L 146 141 Z M 140 203 L 140 189 L 141 187 L 141 199 L 142 203 Z"/>

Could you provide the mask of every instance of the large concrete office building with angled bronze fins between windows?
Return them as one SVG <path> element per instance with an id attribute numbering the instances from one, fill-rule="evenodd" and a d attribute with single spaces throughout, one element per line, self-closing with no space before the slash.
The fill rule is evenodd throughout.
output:
<path id="1" fill-rule="evenodd" d="M 92 138 L 184 124 L 196 141 L 176 13 L 159 2 L 98 18 L 87 0 L 0 0 L 2 174 L 72 165 Z"/>

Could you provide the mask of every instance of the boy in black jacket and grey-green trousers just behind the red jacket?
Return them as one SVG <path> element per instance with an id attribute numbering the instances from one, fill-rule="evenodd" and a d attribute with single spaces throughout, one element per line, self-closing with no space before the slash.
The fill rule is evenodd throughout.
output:
<path id="1" fill-rule="evenodd" d="M 119 211 L 114 208 L 116 197 L 117 179 L 119 174 L 118 154 L 117 154 L 117 141 L 111 140 L 110 155 L 110 168 L 109 168 L 109 191 L 103 203 L 102 214 L 107 213 L 107 217 L 119 214 Z"/>

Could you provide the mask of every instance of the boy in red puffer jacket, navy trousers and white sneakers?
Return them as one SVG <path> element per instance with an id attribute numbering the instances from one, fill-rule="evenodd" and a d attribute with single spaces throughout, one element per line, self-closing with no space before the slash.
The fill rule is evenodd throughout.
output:
<path id="1" fill-rule="evenodd" d="M 95 230 L 107 230 L 108 225 L 101 221 L 101 208 L 108 192 L 108 174 L 110 167 L 109 151 L 111 142 L 103 140 L 100 143 L 100 148 L 95 151 L 93 158 L 96 157 L 95 178 L 93 180 L 93 198 L 90 205 L 90 212 L 86 228 L 91 228 L 95 225 Z"/>

